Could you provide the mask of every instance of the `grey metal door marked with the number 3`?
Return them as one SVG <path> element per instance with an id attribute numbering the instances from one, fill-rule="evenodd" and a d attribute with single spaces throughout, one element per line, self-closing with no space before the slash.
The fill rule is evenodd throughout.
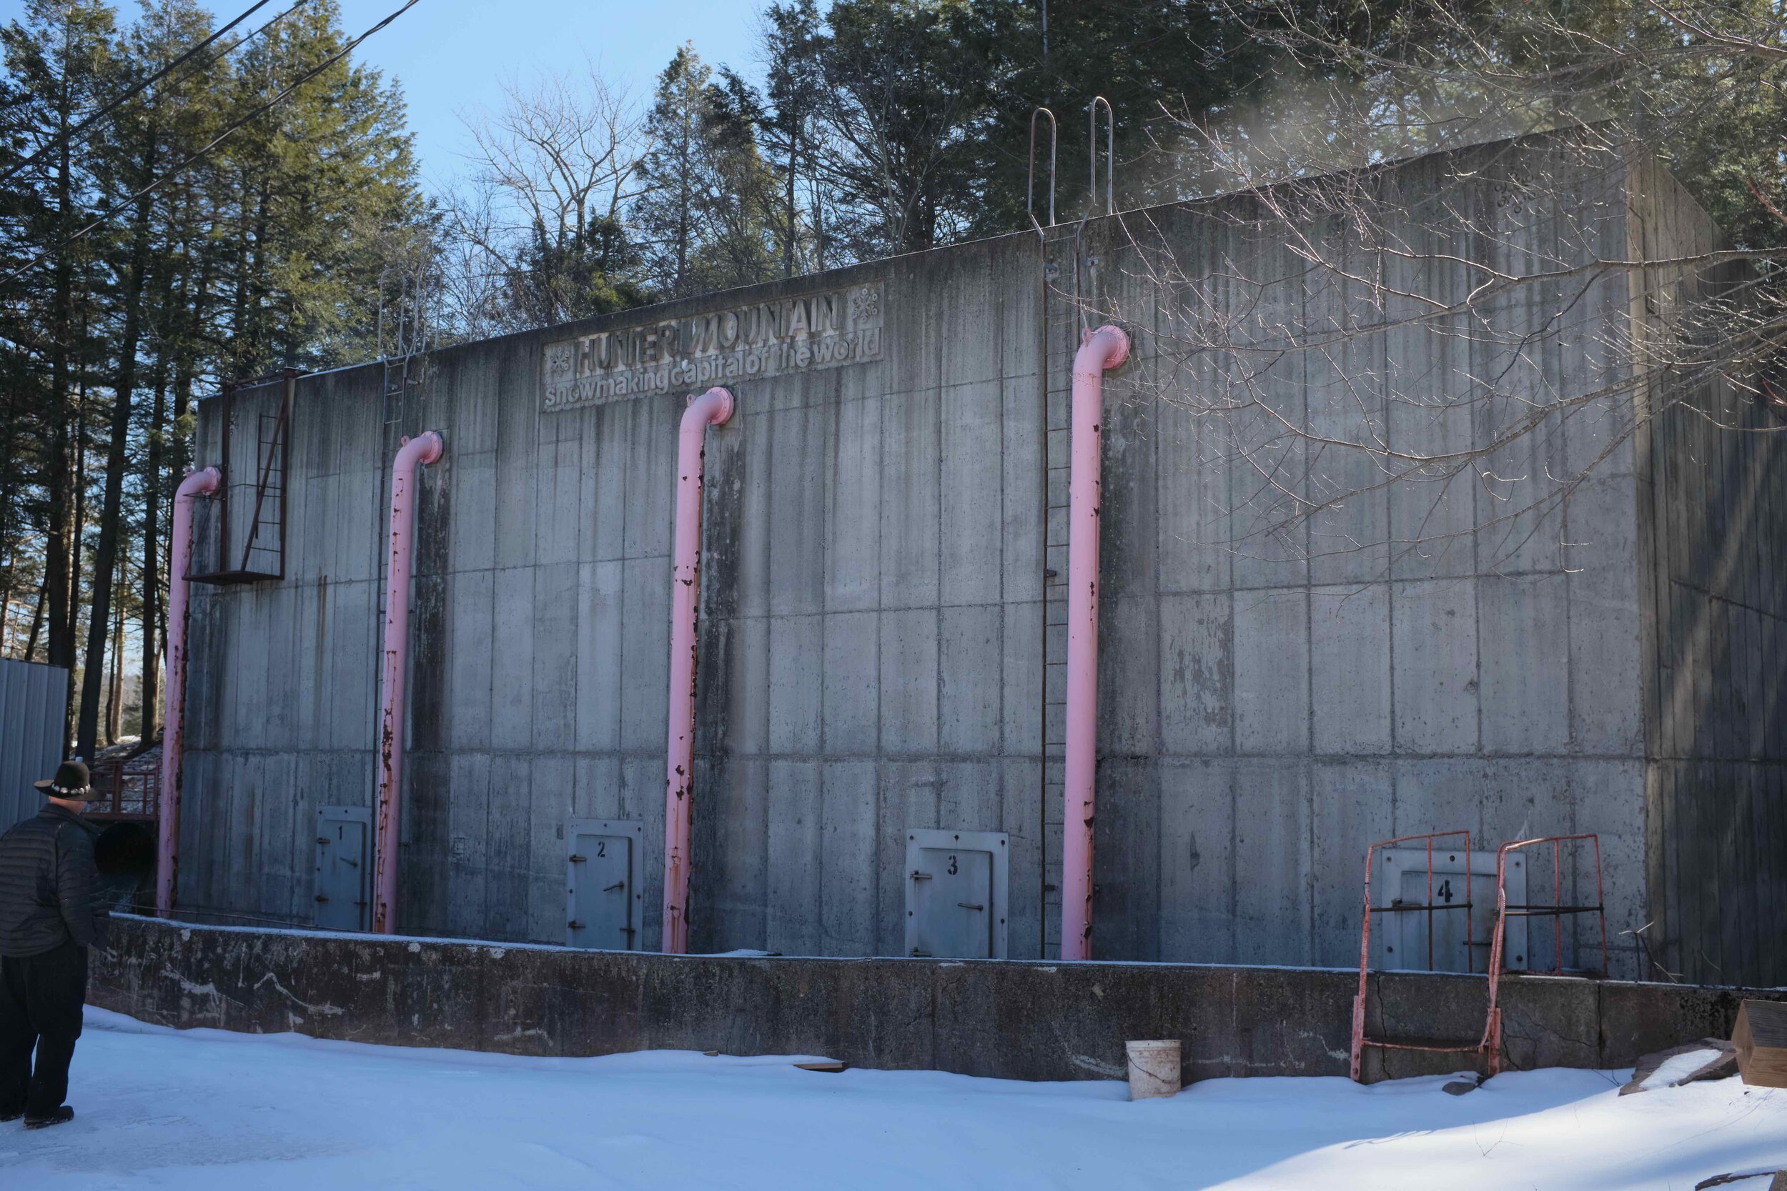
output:
<path id="1" fill-rule="evenodd" d="M 906 832 L 906 954 L 1004 959 L 1006 836 Z"/>

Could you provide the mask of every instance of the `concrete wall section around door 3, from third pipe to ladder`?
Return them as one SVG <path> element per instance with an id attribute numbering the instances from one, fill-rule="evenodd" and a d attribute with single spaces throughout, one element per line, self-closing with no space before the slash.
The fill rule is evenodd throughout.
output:
<path id="1" fill-rule="evenodd" d="M 695 948 L 901 954 L 904 829 L 949 827 L 1010 834 L 1040 955 L 1033 245 L 872 266 L 886 359 L 708 437 Z"/>

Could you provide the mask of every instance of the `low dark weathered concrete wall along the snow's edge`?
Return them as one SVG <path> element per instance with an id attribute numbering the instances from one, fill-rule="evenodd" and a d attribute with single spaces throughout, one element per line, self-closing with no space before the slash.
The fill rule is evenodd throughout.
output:
<path id="1" fill-rule="evenodd" d="M 1385 1023 L 1414 1020 L 1430 1036 L 1474 1041 L 1485 984 L 1378 977 L 1371 1029 L 1381 1036 Z M 1621 1068 L 1728 1037 L 1741 998 L 1549 977 L 1503 987 L 1510 1068 Z M 120 918 L 89 1000 L 180 1029 L 529 1055 L 820 1054 L 1028 1080 L 1122 1079 L 1126 1039 L 1178 1037 L 1183 1075 L 1196 1080 L 1346 1075 L 1355 989 L 1356 973 L 1322 968 L 672 957 Z M 1369 1079 L 1469 1064 L 1408 1054 L 1388 1062 L 1372 1052 Z"/>

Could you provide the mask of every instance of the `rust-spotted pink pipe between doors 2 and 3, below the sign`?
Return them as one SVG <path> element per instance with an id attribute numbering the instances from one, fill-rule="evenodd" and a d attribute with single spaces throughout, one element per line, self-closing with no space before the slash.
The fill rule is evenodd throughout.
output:
<path id="1" fill-rule="evenodd" d="M 665 761 L 663 950 L 688 952 L 688 827 L 695 798 L 695 611 L 701 605 L 701 477 L 708 427 L 733 416 L 715 386 L 688 398 L 675 448 L 675 577 L 670 584 L 670 748 Z"/>

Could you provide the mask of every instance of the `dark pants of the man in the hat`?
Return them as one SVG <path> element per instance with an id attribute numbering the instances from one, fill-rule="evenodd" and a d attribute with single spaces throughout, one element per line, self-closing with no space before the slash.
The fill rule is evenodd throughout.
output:
<path id="1" fill-rule="evenodd" d="M 73 939 L 41 955 L 0 955 L 0 1116 L 45 1118 L 63 1105 L 86 998 L 88 948 Z"/>

